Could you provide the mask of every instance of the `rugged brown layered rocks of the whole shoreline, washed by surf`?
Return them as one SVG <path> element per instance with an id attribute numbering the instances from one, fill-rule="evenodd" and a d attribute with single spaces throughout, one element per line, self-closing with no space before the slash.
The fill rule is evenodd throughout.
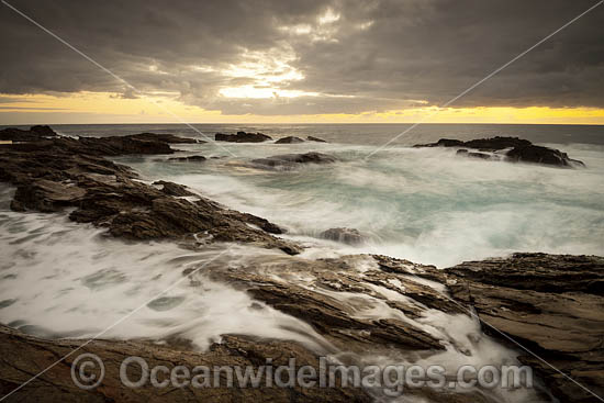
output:
<path id="1" fill-rule="evenodd" d="M 226 138 L 237 142 L 234 137 Z M 343 360 L 349 363 L 361 363 L 368 356 L 392 355 L 414 361 L 444 351 L 472 355 L 473 348 L 494 338 L 517 351 L 517 360 L 534 369 L 545 384 L 545 390 L 535 392 L 540 401 L 550 401 L 547 392 L 563 402 L 599 401 L 573 380 L 604 395 L 604 258 L 515 254 L 444 270 L 376 255 L 309 260 L 290 256 L 300 253 L 301 247 L 279 238 L 277 235 L 283 230 L 277 224 L 230 210 L 178 183 L 144 183 L 128 167 L 104 158 L 127 154 L 169 155 L 175 153 L 170 144 L 194 139 L 149 133 L 75 139 L 58 136 L 48 126 L 0 131 L 0 139 L 12 142 L 0 145 L 0 181 L 16 187 L 11 203 L 14 211 L 68 210 L 70 220 L 105 227 L 109 235 L 126 239 L 175 239 L 191 248 L 203 248 L 205 243 L 236 242 L 283 250 L 284 254 L 270 262 L 209 267 L 204 276 L 247 292 L 261 303 L 258 309 L 270 306 L 309 324 L 326 342 L 323 352 L 345 351 Z M 510 146 L 507 143 L 504 146 L 504 141 L 497 142 L 496 147 L 502 147 L 497 149 Z M 468 143 L 455 143 L 455 146 L 469 148 Z M 484 148 L 483 144 L 473 145 Z M 272 167 L 334 161 L 327 157 L 283 155 L 257 164 Z M 182 275 L 192 282 L 200 281 L 194 275 Z M 298 281 L 290 281 L 292 278 Z M 368 309 L 383 314 L 368 316 Z M 478 315 L 483 321 L 482 332 L 468 335 L 467 346 L 447 336 L 446 328 L 438 329 L 437 337 L 423 324 L 428 311 L 468 322 Z M 192 347 L 186 343 L 172 340 L 159 346 L 152 342 L 156 340 L 96 340 L 86 345 L 83 351 L 110 362 L 108 381 L 94 390 L 85 391 L 74 385 L 69 374 L 74 356 L 20 389 L 13 398 L 19 401 L 164 398 L 224 402 L 366 402 L 376 398 L 372 391 L 346 388 L 174 389 L 164 391 L 169 392 L 165 396 L 153 388 L 121 388 L 118 363 L 126 356 L 193 366 L 200 362 L 257 365 L 269 357 L 284 363 L 289 357 L 295 357 L 298 362 L 314 362 L 318 355 L 299 343 L 259 340 L 244 335 L 224 335 L 220 344 L 205 352 L 191 351 Z M 0 392 L 11 392 L 81 343 L 42 340 L 0 327 L 3 357 Z M 481 390 L 454 393 L 426 388 L 407 393 L 433 402 L 496 402 L 501 398 Z"/>

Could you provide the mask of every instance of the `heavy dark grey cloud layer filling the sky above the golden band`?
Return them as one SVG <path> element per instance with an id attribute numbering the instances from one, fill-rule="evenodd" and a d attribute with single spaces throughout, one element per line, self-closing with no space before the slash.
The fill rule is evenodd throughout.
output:
<path id="1" fill-rule="evenodd" d="M 144 92 L 224 113 L 299 114 L 440 104 L 594 1 L 11 3 Z M 603 20 L 604 5 L 455 105 L 604 107 Z M 137 96 L 7 7 L 0 21 L 0 92 Z M 295 69 L 302 79 L 270 85 L 306 96 L 222 97 L 222 88 L 262 87 L 266 77 L 225 74 L 246 53 L 267 55 L 268 76 Z M 270 63 L 279 55 L 284 66 Z"/>

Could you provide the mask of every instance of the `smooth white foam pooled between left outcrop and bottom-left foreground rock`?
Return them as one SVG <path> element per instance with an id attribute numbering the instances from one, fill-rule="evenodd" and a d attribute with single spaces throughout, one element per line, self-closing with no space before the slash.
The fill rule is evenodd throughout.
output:
<path id="1" fill-rule="evenodd" d="M 307 324 L 203 276 L 204 265 L 230 265 L 246 250 L 257 251 L 126 244 L 55 214 L 2 212 L 0 228 L 0 320 L 25 332 L 93 337 L 136 310 L 102 337 L 181 336 L 204 349 L 234 333 L 294 339 L 314 349 L 326 345 Z M 187 269 L 199 275 L 184 278 Z"/>

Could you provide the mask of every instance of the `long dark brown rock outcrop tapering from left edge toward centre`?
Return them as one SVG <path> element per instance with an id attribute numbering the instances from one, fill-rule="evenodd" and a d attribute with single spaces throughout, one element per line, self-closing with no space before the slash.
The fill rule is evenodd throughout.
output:
<path id="1" fill-rule="evenodd" d="M 130 168 L 100 155 L 142 150 L 141 145 L 171 152 L 168 143 L 121 137 L 55 138 L 0 147 L 0 181 L 18 187 L 11 208 L 16 211 L 54 212 L 75 208 L 69 217 L 107 227 L 109 234 L 130 239 L 191 238 L 202 234 L 209 242 L 242 242 L 297 254 L 293 243 L 276 238 L 277 226 L 253 220 L 208 199 L 177 199 L 189 194 L 184 187 L 161 182 L 161 189 L 135 180 Z M 147 147 L 145 145 L 144 147 Z M 167 149 L 165 148 L 167 147 Z M 251 227 L 250 221 L 259 228 Z M 264 231 L 261 228 L 267 228 Z"/>

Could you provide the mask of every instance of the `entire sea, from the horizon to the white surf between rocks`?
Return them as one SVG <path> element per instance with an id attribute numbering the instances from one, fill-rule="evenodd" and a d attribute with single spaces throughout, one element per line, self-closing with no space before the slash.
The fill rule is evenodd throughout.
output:
<path id="1" fill-rule="evenodd" d="M 421 125 L 374 154 L 409 125 L 195 127 L 211 138 L 216 132 L 243 130 L 273 138 L 311 135 L 328 142 L 172 146 L 181 150 L 179 155 L 205 156 L 203 163 L 171 163 L 168 156 L 157 155 L 114 159 L 134 168 L 143 181 L 182 183 L 228 208 L 278 224 L 287 230 L 283 237 L 305 246 L 299 258 L 367 253 L 445 268 L 513 251 L 604 255 L 604 126 Z M 65 135 L 155 132 L 203 138 L 183 125 L 53 128 Z M 441 137 L 495 135 L 559 148 L 586 168 L 476 160 L 456 156 L 455 149 L 410 147 Z M 254 158 L 306 152 L 339 160 L 295 170 L 260 170 L 249 165 Z M 230 284 L 203 279 L 201 287 L 180 284 L 153 300 L 179 281 L 183 270 L 276 262 L 284 259 L 282 253 L 243 245 L 225 249 L 213 244 L 193 251 L 171 242 L 125 243 L 103 236 L 103 230 L 69 222 L 66 214 L 12 212 L 13 191 L 0 188 L 0 322 L 44 337 L 86 338 L 146 305 L 103 337 L 182 336 L 205 349 L 220 335 L 235 333 L 314 346 L 317 335 L 307 324 L 276 310 L 251 309 L 251 298 Z M 365 242 L 349 246 L 320 237 L 334 227 L 356 228 Z M 376 318 L 388 314 L 368 313 Z M 415 324 L 468 345 L 468 335 L 480 334 L 480 325 L 469 317 L 438 312 L 428 311 Z M 492 339 L 469 348 L 476 362 L 507 362 L 515 355 Z M 447 347 L 434 359 L 463 362 L 468 357 Z M 532 399 L 521 392 L 505 393 L 503 401 Z"/>

